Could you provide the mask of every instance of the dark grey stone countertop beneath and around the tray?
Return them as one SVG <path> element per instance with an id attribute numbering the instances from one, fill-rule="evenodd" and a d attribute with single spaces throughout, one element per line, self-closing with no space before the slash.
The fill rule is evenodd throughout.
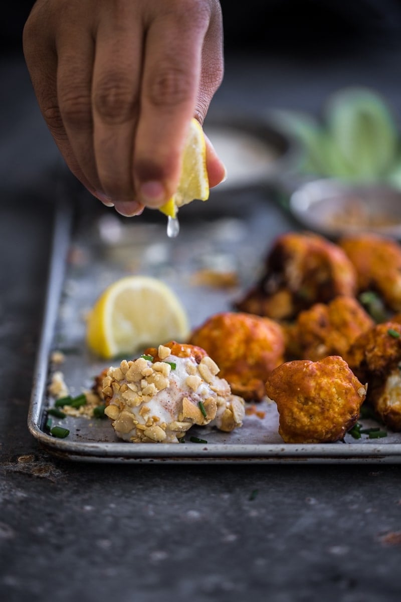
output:
<path id="1" fill-rule="evenodd" d="M 399 58 L 306 69 L 229 57 L 212 110 L 317 111 L 356 80 L 400 106 Z M 40 450 L 26 417 L 57 152 L 22 59 L 3 61 L 0 78 L 2 599 L 399 600 L 399 465 L 97 465 Z"/>

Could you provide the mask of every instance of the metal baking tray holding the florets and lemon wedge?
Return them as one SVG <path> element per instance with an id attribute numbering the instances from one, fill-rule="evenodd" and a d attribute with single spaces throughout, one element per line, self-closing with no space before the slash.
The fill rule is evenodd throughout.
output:
<path id="1" fill-rule="evenodd" d="M 67 187 L 68 188 L 68 187 Z M 181 232 L 169 239 L 163 216 L 122 219 L 113 209 L 92 211 L 88 198 L 80 199 L 74 216 L 72 196 L 67 190 L 58 195 L 55 209 L 54 240 L 49 266 L 49 282 L 43 328 L 29 406 L 28 427 L 47 451 L 64 459 L 90 462 L 168 462 L 168 463 L 281 463 L 281 462 L 400 462 L 401 433 L 384 439 L 359 440 L 346 435 L 334 444 L 284 444 L 278 435 L 278 414 L 274 404 L 262 402 L 258 411 L 265 417 L 246 415 L 243 427 L 222 433 L 210 427 L 192 427 L 189 435 L 207 444 L 131 444 L 115 437 L 109 420 L 67 417 L 60 424 L 70 430 L 58 439 L 46 430 L 46 411 L 53 400 L 47 386 L 55 370 L 61 370 L 72 394 L 89 389 L 93 376 L 107 364 L 94 357 L 85 346 L 85 312 L 103 289 L 129 274 L 160 278 L 179 294 L 188 311 L 191 326 L 209 315 L 229 311 L 234 300 L 252 284 L 262 269 L 272 240 L 296 226 L 268 190 L 242 191 L 239 214 L 227 210 L 210 218 L 207 203 L 200 203 L 196 218 L 185 219 L 180 212 Z M 208 203 L 218 203 L 211 194 Z M 97 207 L 97 205 L 96 205 Z M 93 206 L 92 206 L 93 208 Z M 233 288 L 213 288 L 197 280 L 201 270 L 235 273 Z M 165 341 L 161 341 L 165 342 Z M 52 353 L 61 350 L 65 361 L 59 367 Z M 54 424 L 58 423 L 53 419 Z M 373 426 L 365 421 L 364 426 Z M 189 436 L 187 437 L 187 439 Z"/>

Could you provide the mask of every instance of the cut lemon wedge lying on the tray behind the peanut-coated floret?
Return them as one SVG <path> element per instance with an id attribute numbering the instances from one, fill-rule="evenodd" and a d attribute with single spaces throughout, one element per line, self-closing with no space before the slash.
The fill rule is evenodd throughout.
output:
<path id="1" fill-rule="evenodd" d="M 182 303 L 163 282 L 127 276 L 97 299 L 87 323 L 88 347 L 102 358 L 127 357 L 145 346 L 188 337 Z"/>

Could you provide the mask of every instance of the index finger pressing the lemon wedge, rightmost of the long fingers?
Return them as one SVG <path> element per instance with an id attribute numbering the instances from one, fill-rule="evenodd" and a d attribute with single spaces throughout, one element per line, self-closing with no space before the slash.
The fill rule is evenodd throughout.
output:
<path id="1" fill-rule="evenodd" d="M 175 11 L 155 16 L 145 40 L 133 176 L 138 199 L 153 208 L 176 190 L 197 99 L 210 15 L 204 10 L 195 14 L 195 8 L 204 3 L 189 4 L 180 0 Z"/>

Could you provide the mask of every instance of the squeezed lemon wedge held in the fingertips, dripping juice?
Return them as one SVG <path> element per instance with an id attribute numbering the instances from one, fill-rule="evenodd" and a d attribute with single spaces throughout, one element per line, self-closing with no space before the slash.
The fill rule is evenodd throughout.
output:
<path id="1" fill-rule="evenodd" d="M 188 205 L 195 199 L 209 199 L 209 179 L 203 129 L 196 119 L 192 119 L 185 142 L 177 191 L 159 210 L 166 216 L 175 218 L 179 207 Z"/>

